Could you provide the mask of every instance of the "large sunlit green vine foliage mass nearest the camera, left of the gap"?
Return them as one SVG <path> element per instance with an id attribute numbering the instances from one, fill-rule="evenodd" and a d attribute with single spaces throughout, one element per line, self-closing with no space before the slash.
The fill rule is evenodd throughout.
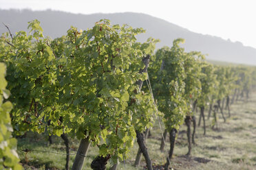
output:
<path id="1" fill-rule="evenodd" d="M 89 136 L 100 154 L 122 159 L 134 143 L 135 130 L 152 125 L 152 101 L 136 82 L 147 79 L 140 73 L 142 58 L 153 53 L 157 40 L 136 42 L 145 30 L 108 20 L 86 31 L 71 27 L 67 36 L 55 40 L 43 37 L 39 21 L 28 28 L 28 35 L 18 32 L 11 39 L 3 34 L 0 40 L 17 134 L 41 133 L 47 127 L 58 136 Z"/>

